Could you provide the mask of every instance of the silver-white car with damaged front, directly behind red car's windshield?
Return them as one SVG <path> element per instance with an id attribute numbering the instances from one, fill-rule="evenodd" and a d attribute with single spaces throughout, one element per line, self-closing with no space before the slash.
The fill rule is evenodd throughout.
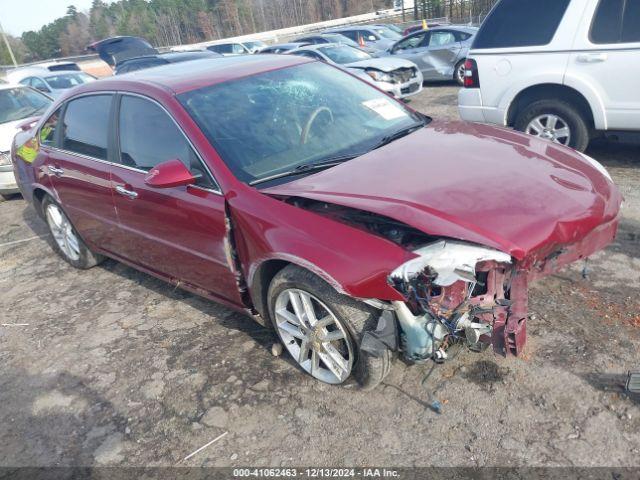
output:
<path id="1" fill-rule="evenodd" d="M 340 43 L 308 45 L 289 54 L 336 65 L 396 98 L 404 99 L 422 90 L 420 70 L 414 63 L 401 58 L 375 58 L 359 48 Z"/>

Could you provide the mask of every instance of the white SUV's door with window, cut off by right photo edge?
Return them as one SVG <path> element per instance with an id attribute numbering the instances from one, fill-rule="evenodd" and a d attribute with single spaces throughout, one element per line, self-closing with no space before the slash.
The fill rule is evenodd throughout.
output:
<path id="1" fill-rule="evenodd" d="M 640 0 L 594 0 L 589 12 L 568 76 L 597 91 L 608 129 L 640 130 Z"/>

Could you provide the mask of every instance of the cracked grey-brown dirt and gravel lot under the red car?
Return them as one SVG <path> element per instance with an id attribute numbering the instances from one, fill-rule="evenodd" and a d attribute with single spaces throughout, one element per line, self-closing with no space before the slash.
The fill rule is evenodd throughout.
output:
<path id="1" fill-rule="evenodd" d="M 411 104 L 455 119 L 456 94 Z M 22 199 L 0 203 L 0 323 L 28 324 L 0 326 L 0 465 L 640 466 L 640 398 L 619 386 L 640 368 L 640 147 L 589 153 L 626 197 L 619 238 L 586 279 L 533 286 L 527 354 L 463 352 L 427 388 L 429 366 L 398 362 L 371 393 L 314 381 L 251 319 L 121 264 L 72 269 Z"/>

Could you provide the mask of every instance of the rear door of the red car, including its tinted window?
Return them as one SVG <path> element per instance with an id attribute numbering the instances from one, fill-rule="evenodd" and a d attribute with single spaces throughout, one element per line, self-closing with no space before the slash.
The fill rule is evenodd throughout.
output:
<path id="1" fill-rule="evenodd" d="M 62 208 L 85 242 L 109 251 L 117 248 L 118 228 L 108 148 L 113 97 L 100 94 L 72 99 L 39 133 L 47 155 L 46 171 Z"/>

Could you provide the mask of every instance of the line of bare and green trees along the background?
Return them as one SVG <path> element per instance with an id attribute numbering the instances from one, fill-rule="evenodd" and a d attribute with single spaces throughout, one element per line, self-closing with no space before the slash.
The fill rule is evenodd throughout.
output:
<path id="1" fill-rule="evenodd" d="M 495 0 L 416 0 L 416 16 L 454 19 L 486 13 Z M 391 8 L 392 0 L 93 0 L 88 12 L 66 15 L 9 36 L 18 62 L 82 55 L 91 42 L 135 35 L 155 46 L 180 45 L 331 20 Z M 10 64 L 0 44 L 0 64 Z"/>

